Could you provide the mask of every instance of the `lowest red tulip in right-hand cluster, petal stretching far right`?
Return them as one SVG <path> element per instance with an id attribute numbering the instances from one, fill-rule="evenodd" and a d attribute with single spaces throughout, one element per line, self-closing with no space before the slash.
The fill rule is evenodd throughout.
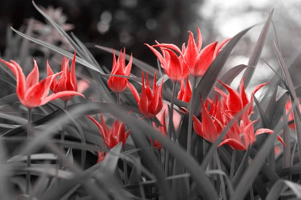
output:
<path id="1" fill-rule="evenodd" d="M 252 103 L 252 102 L 250 102 Z M 227 116 L 229 120 L 231 120 L 231 116 Z M 253 144 L 256 136 L 262 133 L 272 134 L 274 131 L 268 128 L 259 128 L 256 130 L 254 134 L 254 126 L 255 121 L 251 121 L 248 117 L 248 110 L 243 113 L 242 119 L 240 120 L 240 125 L 236 121 L 230 130 L 226 134 L 226 139 L 222 141 L 219 146 L 224 144 L 229 144 L 233 149 L 236 150 L 246 150 L 249 144 Z M 277 135 L 277 139 L 286 147 L 282 138 Z"/>

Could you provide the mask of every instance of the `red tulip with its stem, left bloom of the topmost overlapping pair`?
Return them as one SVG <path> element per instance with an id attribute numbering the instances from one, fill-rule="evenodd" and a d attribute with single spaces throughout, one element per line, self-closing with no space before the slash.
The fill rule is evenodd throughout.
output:
<path id="1" fill-rule="evenodd" d="M 157 42 L 157 41 L 156 41 Z M 153 46 L 150 46 L 148 44 L 145 44 L 152 50 L 155 55 L 158 57 L 161 66 L 164 68 L 166 74 L 168 77 L 173 80 L 173 92 L 172 92 L 172 99 L 171 99 L 171 109 L 169 114 L 169 123 L 168 123 L 168 138 L 171 139 L 172 135 L 172 126 L 173 126 L 173 114 L 174 114 L 174 100 L 176 96 L 176 86 L 178 81 L 182 81 L 186 76 L 188 76 L 189 71 L 188 68 L 184 62 L 183 54 L 181 53 L 180 56 L 171 49 L 162 47 L 161 45 L 167 45 L 172 46 L 175 48 L 178 48 L 174 44 L 160 44 L 157 42 L 157 45 L 153 46 L 159 46 L 162 54 L 156 50 Z M 178 49 L 180 51 L 180 49 Z M 169 152 L 166 150 L 166 156 L 165 156 L 165 175 L 168 176 L 168 169 L 169 169 Z"/>

